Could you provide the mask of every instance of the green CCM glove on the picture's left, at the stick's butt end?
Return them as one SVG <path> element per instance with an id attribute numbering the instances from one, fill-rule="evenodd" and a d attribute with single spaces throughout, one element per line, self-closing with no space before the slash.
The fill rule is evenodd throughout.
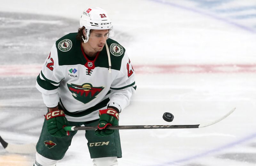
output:
<path id="1" fill-rule="evenodd" d="M 47 130 L 52 136 L 61 138 L 69 135 L 69 132 L 64 130 L 64 127 L 68 126 L 69 123 L 63 110 L 50 111 L 44 117 L 46 118 Z"/>

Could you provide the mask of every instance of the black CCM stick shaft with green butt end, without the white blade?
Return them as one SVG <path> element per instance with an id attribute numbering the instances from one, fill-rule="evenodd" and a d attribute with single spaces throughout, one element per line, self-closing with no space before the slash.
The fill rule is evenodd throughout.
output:
<path id="1" fill-rule="evenodd" d="M 128 126 L 108 126 L 106 129 L 111 130 L 124 130 L 124 129 L 186 129 L 186 128 L 198 128 L 200 124 L 190 125 L 128 125 Z M 64 127 L 66 131 L 73 130 L 97 130 L 97 126 L 67 126 Z"/>

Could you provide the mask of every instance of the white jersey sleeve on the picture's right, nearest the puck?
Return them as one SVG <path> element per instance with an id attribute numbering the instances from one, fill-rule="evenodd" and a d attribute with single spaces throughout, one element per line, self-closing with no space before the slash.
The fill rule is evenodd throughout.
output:
<path id="1" fill-rule="evenodd" d="M 131 96 L 136 90 L 135 73 L 126 53 L 122 59 L 120 72 L 112 82 L 110 89 L 108 106 L 113 106 L 121 112 L 129 105 Z"/>

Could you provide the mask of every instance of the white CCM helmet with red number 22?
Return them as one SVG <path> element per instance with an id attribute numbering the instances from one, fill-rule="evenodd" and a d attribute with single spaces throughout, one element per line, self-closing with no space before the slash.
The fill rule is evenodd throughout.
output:
<path id="1" fill-rule="evenodd" d="M 91 29 L 109 29 L 108 37 L 114 36 L 114 29 L 107 11 L 100 7 L 84 10 L 80 18 L 80 27 L 85 27 L 86 36 L 82 36 L 84 43 L 89 40 Z"/>

